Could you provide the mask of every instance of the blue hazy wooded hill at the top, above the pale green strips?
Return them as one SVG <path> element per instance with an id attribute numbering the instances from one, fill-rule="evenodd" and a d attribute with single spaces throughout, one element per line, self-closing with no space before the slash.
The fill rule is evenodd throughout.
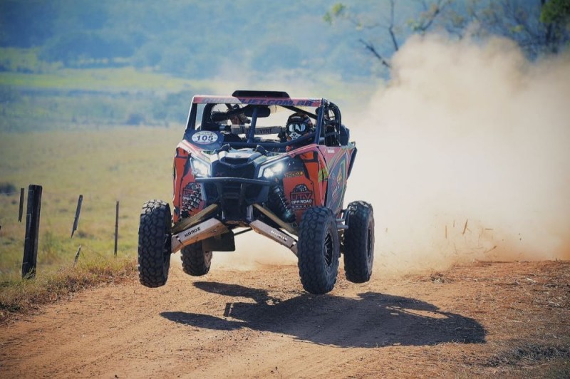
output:
<path id="1" fill-rule="evenodd" d="M 374 61 L 331 1 L 3 0 L 0 46 L 69 68 L 135 66 L 185 78 L 247 70 L 366 77 Z M 350 35 L 353 34 L 353 38 Z M 6 66 L 6 65 L 4 65 Z"/>

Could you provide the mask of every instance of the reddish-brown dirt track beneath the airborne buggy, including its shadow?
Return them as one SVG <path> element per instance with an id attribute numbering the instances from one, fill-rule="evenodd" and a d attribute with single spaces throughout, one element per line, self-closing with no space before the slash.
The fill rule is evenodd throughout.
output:
<path id="1" fill-rule="evenodd" d="M 177 259 L 175 256 L 173 259 Z M 475 263 L 404 278 L 340 275 L 327 296 L 296 266 L 105 286 L 0 329 L 0 376 L 568 376 L 570 262 Z"/>

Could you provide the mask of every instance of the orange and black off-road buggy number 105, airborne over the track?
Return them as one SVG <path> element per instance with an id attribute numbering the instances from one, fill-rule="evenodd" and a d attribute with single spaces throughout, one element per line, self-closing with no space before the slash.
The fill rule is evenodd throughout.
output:
<path id="1" fill-rule="evenodd" d="M 314 125 L 287 140 L 292 113 Z M 234 238 L 251 230 L 296 254 L 311 294 L 333 289 L 341 254 L 346 278 L 368 281 L 373 209 L 366 202 L 343 209 L 355 157 L 341 111 L 324 98 L 252 90 L 194 96 L 174 158 L 173 212 L 157 199 L 142 207 L 140 283 L 166 284 L 170 254 L 179 250 L 187 274 L 207 274 L 212 251 L 234 251 Z"/>

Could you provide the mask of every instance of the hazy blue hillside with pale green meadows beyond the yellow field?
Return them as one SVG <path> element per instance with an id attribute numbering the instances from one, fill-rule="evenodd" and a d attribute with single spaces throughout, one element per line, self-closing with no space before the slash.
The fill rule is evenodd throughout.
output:
<path id="1" fill-rule="evenodd" d="M 356 98 L 379 65 L 353 26 L 323 21 L 330 6 L 2 0 L 0 131 L 164 127 L 185 121 L 195 93 L 244 86 Z"/>

